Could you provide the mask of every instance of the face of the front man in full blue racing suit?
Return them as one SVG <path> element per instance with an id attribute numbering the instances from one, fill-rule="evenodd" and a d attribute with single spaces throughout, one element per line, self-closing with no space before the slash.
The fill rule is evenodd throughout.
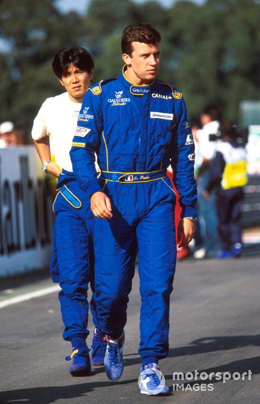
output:
<path id="1" fill-rule="evenodd" d="M 124 62 L 136 76 L 136 84 L 151 83 L 159 72 L 160 44 L 155 45 L 143 42 L 132 42 L 132 55 L 122 55 Z"/>

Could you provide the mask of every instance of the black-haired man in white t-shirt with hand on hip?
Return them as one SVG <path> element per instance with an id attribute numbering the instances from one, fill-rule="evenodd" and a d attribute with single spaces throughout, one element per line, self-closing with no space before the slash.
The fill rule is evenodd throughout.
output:
<path id="1" fill-rule="evenodd" d="M 86 338 L 89 334 L 87 288 L 94 266 L 91 240 L 94 218 L 89 199 L 72 172 L 69 152 L 82 99 L 93 77 L 94 62 L 86 49 L 73 46 L 60 49 L 52 68 L 66 92 L 45 100 L 34 120 L 32 137 L 43 164 L 42 170 L 58 178 L 58 193 L 53 204 L 56 220 L 50 270 L 52 280 L 59 282 L 61 287 L 59 301 L 65 326 L 63 338 L 71 341 L 73 347 L 72 354 L 66 359 L 73 358 L 70 373 L 79 376 L 88 375 L 91 371 Z M 78 135 L 84 137 L 86 131 Z M 50 153 L 55 155 L 55 162 L 50 161 Z M 104 334 L 98 329 L 94 299 L 90 307 L 96 326 L 92 363 L 102 365 L 106 343 Z"/>

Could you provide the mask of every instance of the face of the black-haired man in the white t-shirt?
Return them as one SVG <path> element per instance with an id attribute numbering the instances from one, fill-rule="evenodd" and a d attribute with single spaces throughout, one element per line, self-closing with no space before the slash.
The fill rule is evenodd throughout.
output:
<path id="1" fill-rule="evenodd" d="M 93 69 L 88 73 L 71 64 L 59 81 L 68 91 L 71 100 L 81 103 L 92 78 Z"/>

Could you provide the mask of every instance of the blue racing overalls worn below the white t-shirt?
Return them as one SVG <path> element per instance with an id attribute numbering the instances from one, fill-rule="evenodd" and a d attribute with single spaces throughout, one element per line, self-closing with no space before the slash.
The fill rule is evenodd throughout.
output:
<path id="1" fill-rule="evenodd" d="M 89 331 L 87 300 L 88 283 L 94 290 L 94 216 L 89 198 L 78 185 L 72 172 L 62 169 L 53 203 L 55 225 L 50 272 L 59 282 L 59 301 L 64 323 L 64 340 L 87 338 Z M 93 322 L 98 326 L 95 301 L 90 301 Z"/>

